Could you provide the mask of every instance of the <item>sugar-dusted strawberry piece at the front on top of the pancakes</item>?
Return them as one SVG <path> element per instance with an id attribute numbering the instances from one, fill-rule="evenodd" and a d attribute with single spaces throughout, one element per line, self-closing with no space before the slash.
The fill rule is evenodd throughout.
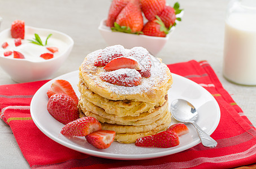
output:
<path id="1" fill-rule="evenodd" d="M 120 86 L 138 86 L 141 82 L 141 74 L 135 69 L 118 69 L 111 72 L 104 72 L 99 75 L 102 81 L 117 84 Z"/>

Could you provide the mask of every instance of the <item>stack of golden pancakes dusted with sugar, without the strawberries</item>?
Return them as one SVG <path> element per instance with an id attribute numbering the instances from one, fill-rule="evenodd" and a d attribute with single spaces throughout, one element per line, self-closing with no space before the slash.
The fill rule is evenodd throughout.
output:
<path id="1" fill-rule="evenodd" d="M 99 78 L 107 71 L 104 66 L 94 66 L 101 54 L 102 50 L 90 53 L 80 66 L 80 117 L 98 119 L 102 130 L 116 132 L 115 141 L 119 143 L 134 143 L 139 137 L 166 130 L 171 122 L 167 92 L 172 84 L 167 66 L 147 54 L 152 63 L 150 77 L 142 77 L 138 86 L 119 86 Z"/>

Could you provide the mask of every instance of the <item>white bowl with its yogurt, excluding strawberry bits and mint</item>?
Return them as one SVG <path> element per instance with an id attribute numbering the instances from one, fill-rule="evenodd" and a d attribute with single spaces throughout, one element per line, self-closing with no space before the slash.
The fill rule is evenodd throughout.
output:
<path id="1" fill-rule="evenodd" d="M 46 46 L 39 46 L 30 43 L 28 39 L 33 39 L 34 34 L 40 35 L 42 42 L 46 37 L 52 34 L 47 40 Z M 0 33 L 0 45 L 8 43 L 7 48 L 0 47 L 0 66 L 8 73 L 15 82 L 32 82 L 44 80 L 56 72 L 73 48 L 73 39 L 67 34 L 56 30 L 33 28 L 25 26 L 25 37 L 21 40 L 20 46 L 14 45 L 14 38 L 11 37 L 10 29 L 3 30 Z M 54 53 L 52 59 L 42 59 L 41 54 L 49 53 L 46 47 L 57 47 L 58 52 Z M 12 56 L 4 56 L 6 50 L 18 51 L 24 55 L 25 59 L 15 59 Z"/>

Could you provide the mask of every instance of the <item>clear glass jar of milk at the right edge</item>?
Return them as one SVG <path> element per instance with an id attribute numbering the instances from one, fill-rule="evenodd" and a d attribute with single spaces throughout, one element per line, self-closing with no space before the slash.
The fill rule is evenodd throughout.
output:
<path id="1" fill-rule="evenodd" d="M 256 0 L 229 2 L 223 75 L 233 83 L 256 85 Z"/>

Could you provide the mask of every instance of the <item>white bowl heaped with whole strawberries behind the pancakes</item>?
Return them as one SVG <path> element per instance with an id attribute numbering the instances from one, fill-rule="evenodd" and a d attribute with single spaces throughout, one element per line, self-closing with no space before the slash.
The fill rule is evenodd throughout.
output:
<path id="1" fill-rule="evenodd" d="M 109 46 L 141 46 L 157 55 L 181 16 L 183 10 L 177 2 L 172 7 L 166 0 L 113 0 L 98 29 Z"/>

